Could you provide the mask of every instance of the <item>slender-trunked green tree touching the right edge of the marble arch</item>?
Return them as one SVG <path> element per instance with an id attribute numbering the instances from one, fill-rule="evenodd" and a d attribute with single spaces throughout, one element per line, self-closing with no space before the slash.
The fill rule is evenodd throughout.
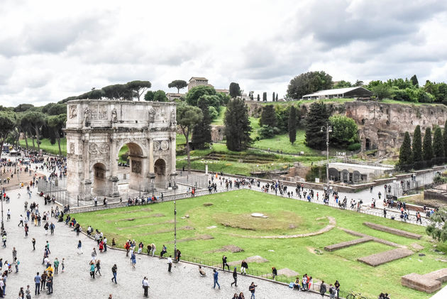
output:
<path id="1" fill-rule="evenodd" d="M 186 152 L 188 173 L 191 173 L 191 156 L 189 153 L 189 135 L 196 124 L 202 121 L 204 115 L 202 110 L 198 107 L 188 105 L 186 103 L 180 103 L 177 105 L 177 124 L 180 126 L 184 138 L 186 140 Z"/>

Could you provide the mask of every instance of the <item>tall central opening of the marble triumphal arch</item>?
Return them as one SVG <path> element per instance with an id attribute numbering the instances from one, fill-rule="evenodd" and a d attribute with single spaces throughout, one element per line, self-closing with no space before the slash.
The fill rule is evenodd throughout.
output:
<path id="1" fill-rule="evenodd" d="M 118 151 L 118 191 L 120 193 L 140 192 L 147 190 L 148 178 L 145 165 L 147 157 L 143 148 L 137 143 L 126 143 Z"/>

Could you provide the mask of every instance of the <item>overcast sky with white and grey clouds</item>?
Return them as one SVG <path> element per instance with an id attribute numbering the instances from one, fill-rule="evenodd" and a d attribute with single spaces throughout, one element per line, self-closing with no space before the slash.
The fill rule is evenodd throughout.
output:
<path id="1" fill-rule="evenodd" d="M 283 97 L 292 77 L 447 81 L 446 0 L 0 2 L 0 105 L 206 77 Z M 186 90 L 186 89 L 183 89 Z"/>

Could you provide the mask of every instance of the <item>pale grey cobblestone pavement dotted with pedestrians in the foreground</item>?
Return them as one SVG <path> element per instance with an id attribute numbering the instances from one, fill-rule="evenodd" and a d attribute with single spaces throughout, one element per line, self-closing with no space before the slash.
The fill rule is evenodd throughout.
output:
<path id="1" fill-rule="evenodd" d="M 3 261 L 12 261 L 12 249 L 16 247 L 18 260 L 20 261 L 19 272 L 11 273 L 6 282 L 7 298 L 17 298 L 20 287 L 29 284 L 33 290 L 33 277 L 38 271 L 42 273 L 43 249 L 45 241 L 50 242 L 50 261 L 55 258 L 62 261 L 65 258 L 65 273 L 59 267 L 59 273 L 55 275 L 53 295 L 40 294 L 38 298 L 108 298 L 109 293 L 113 298 L 143 298 L 143 288 L 141 281 L 143 276 L 148 276 L 150 298 L 232 298 L 234 293 L 243 292 L 245 298 L 248 295 L 248 286 L 254 281 L 256 298 L 321 298 L 314 293 L 304 293 L 292 290 L 283 286 L 257 278 L 238 276 L 238 287 L 230 286 L 233 281 L 231 273 L 219 274 L 221 290 L 212 289 L 213 278 L 211 269 L 206 268 L 206 277 L 199 276 L 197 266 L 180 262 L 172 268 L 172 273 L 167 273 L 166 260 L 138 255 L 136 269 L 131 268 L 131 263 L 123 251 L 109 249 L 106 253 L 100 254 L 102 276 L 92 279 L 89 276 L 89 261 L 91 252 L 96 242 L 84 235 L 76 237 L 65 224 L 55 223 L 55 234 L 45 236 L 43 224 L 41 227 L 34 227 L 31 224 L 29 236 L 25 238 L 23 227 L 18 227 L 18 218 L 23 213 L 23 203 L 35 201 L 40 206 L 40 213 L 50 210 L 50 206 L 43 205 L 43 198 L 38 197 L 33 192 L 32 199 L 26 195 L 26 190 L 12 190 L 8 192 L 11 202 L 4 202 L 5 229 L 8 233 L 6 248 L 0 247 L 0 257 Z M 17 193 L 21 192 L 21 198 L 17 198 Z M 11 210 L 11 221 L 6 221 L 6 211 Z M 36 250 L 33 251 L 31 239 L 37 240 Z M 77 241 L 82 241 L 84 254 L 77 254 Z M 116 263 L 118 266 L 118 284 L 111 282 L 111 267 Z M 13 271 L 14 272 L 14 271 Z"/>

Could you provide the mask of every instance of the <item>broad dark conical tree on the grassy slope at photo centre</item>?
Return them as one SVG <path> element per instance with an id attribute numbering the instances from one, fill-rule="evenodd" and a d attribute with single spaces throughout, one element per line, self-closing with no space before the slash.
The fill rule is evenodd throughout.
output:
<path id="1" fill-rule="evenodd" d="M 224 123 L 226 147 L 230 151 L 243 151 L 250 146 L 251 126 L 248 107 L 243 99 L 236 98 L 228 102 Z"/>

